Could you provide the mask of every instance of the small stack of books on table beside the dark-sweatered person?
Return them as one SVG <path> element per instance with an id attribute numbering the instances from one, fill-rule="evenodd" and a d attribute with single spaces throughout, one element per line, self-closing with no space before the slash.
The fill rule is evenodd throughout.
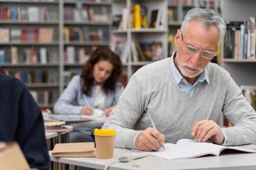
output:
<path id="1" fill-rule="evenodd" d="M 49 121 L 45 122 L 45 132 L 67 132 L 68 128 L 65 121 Z"/>

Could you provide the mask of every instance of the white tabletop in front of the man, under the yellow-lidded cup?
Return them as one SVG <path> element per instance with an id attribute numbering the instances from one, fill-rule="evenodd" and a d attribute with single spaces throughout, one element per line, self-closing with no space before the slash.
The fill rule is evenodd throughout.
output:
<path id="1" fill-rule="evenodd" d="M 114 149 L 114 157 L 120 157 L 130 149 Z M 88 168 L 103 170 L 110 159 L 94 158 L 54 158 L 49 151 L 52 161 Z M 133 167 L 129 162 L 116 161 L 108 170 L 256 170 L 256 153 L 224 151 L 220 156 L 208 155 L 193 159 L 166 161 L 153 156 L 134 160 L 139 167 Z"/>

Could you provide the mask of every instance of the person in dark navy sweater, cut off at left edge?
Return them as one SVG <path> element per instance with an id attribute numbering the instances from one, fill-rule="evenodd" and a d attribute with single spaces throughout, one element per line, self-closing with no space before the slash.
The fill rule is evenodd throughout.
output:
<path id="1" fill-rule="evenodd" d="M 49 170 L 39 106 L 19 79 L 0 73 L 0 141 L 17 141 L 32 170 Z"/>

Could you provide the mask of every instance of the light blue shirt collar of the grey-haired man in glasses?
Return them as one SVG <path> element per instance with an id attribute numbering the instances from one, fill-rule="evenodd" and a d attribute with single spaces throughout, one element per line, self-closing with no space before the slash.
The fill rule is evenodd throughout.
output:
<path id="1" fill-rule="evenodd" d="M 177 50 L 175 50 L 173 52 L 173 55 L 171 56 L 171 70 L 173 72 L 174 79 L 175 79 L 176 83 L 179 84 L 180 81 L 184 78 L 182 77 L 180 72 L 177 70 L 177 68 L 176 68 L 176 66 L 174 65 L 174 62 L 173 62 L 173 58 L 176 56 L 176 53 L 177 53 Z M 207 83 L 210 84 L 209 74 L 208 74 L 207 68 L 204 69 L 204 71 L 198 76 L 198 79 L 197 79 L 198 82 L 203 82 L 204 80 L 206 80 Z"/>

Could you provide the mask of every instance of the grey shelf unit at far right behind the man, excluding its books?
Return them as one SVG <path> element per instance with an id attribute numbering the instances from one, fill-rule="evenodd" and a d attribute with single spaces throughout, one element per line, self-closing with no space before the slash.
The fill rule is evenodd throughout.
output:
<path id="1" fill-rule="evenodd" d="M 223 0 L 222 1 L 222 18 L 226 21 L 247 21 L 249 17 L 255 16 L 255 0 Z M 237 11 L 237 12 L 236 12 Z M 223 43 L 222 43 L 223 44 Z M 256 85 L 255 78 L 255 59 L 227 59 L 222 50 L 220 66 L 225 68 L 240 85 Z"/>

